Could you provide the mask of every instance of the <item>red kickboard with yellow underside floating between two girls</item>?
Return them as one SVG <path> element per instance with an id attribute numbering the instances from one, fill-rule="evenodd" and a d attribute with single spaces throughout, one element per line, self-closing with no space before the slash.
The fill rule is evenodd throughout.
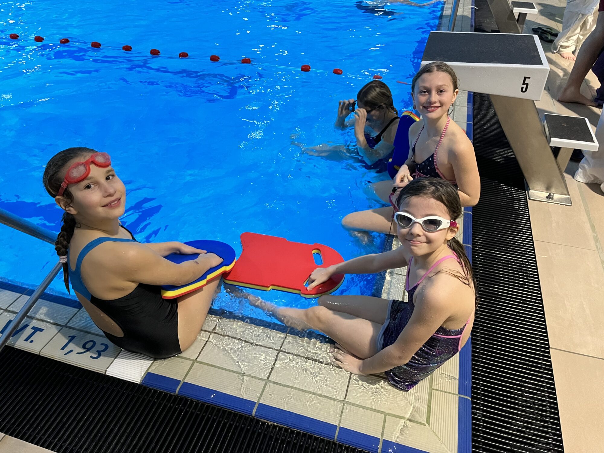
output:
<path id="1" fill-rule="evenodd" d="M 243 251 L 230 272 L 223 274 L 226 283 L 270 291 L 297 292 L 303 297 L 319 297 L 339 288 L 344 274 L 334 275 L 309 291 L 304 284 L 316 268 L 327 268 L 344 261 L 334 249 L 323 244 L 290 242 L 283 237 L 243 233 Z M 323 264 L 317 265 L 313 253 Z"/>

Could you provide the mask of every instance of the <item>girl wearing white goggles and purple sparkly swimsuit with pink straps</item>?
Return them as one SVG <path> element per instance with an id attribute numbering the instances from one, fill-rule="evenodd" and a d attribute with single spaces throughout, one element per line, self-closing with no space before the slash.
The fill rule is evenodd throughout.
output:
<path id="1" fill-rule="evenodd" d="M 316 329 L 336 341 L 333 361 L 355 374 L 385 373 L 407 391 L 454 356 L 467 341 L 477 303 L 476 281 L 455 239 L 461 215 L 457 188 L 443 179 L 416 178 L 396 199 L 394 250 L 312 272 L 309 289 L 336 274 L 371 274 L 407 266 L 407 301 L 322 296 L 308 309 L 277 307 L 250 297 L 284 324 Z"/>

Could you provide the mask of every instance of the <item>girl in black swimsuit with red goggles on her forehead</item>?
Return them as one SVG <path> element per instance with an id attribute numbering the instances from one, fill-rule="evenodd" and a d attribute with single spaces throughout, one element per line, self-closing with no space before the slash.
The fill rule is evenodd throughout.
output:
<path id="1" fill-rule="evenodd" d="M 189 283 L 222 258 L 180 242 L 137 242 L 120 223 L 126 188 L 107 153 L 63 150 L 48 161 L 43 184 L 65 211 L 55 242 L 65 286 L 69 291 L 71 278 L 78 300 L 109 341 L 154 359 L 193 344 L 220 278 L 172 300 L 161 297 L 161 285 Z M 182 264 L 164 259 L 175 252 L 199 257 Z"/>

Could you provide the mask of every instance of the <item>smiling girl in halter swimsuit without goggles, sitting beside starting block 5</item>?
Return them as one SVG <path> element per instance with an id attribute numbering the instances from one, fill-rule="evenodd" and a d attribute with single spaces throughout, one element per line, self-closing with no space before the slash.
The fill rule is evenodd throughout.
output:
<path id="1" fill-rule="evenodd" d="M 409 156 L 394 180 L 374 184 L 382 201 L 390 201 L 393 188 L 405 187 L 413 178 L 430 176 L 454 184 L 462 207 L 478 203 L 480 176 L 474 146 L 449 117 L 458 92 L 457 76 L 446 63 L 429 63 L 413 77 L 411 95 L 422 119 L 409 129 Z M 342 225 L 349 230 L 391 233 L 396 231 L 392 213 L 390 206 L 358 211 L 345 216 Z"/>

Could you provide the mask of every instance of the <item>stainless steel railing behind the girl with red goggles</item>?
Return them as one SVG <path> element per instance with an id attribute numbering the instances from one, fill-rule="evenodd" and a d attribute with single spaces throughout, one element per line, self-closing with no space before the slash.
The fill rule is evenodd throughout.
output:
<path id="1" fill-rule="evenodd" d="M 21 217 L 16 216 L 15 214 L 10 213 L 2 208 L 0 208 L 0 223 L 4 223 L 4 225 L 10 226 L 15 230 L 22 231 L 23 233 L 27 233 L 30 236 L 37 237 L 38 239 L 42 239 L 43 241 L 51 244 L 54 244 L 54 241 L 57 237 L 57 235 L 52 231 L 35 225 L 34 223 L 22 219 Z M 63 265 L 60 262 L 57 262 L 57 264 L 54 265 L 53 269 L 48 272 L 48 275 L 44 277 L 42 283 L 38 285 L 34 293 L 28 298 L 21 310 L 19 310 L 19 313 L 17 313 L 17 315 L 14 317 L 14 320 L 8 324 L 7 329 L 4 330 L 4 333 L 2 333 L 2 336 L 0 337 L 0 351 L 2 348 L 4 348 L 5 344 L 7 344 L 11 336 L 13 336 L 14 331 L 18 329 L 21 321 L 25 319 L 25 316 L 27 316 L 43 292 L 46 291 L 48 285 L 51 283 L 51 281 L 53 281 L 54 277 L 59 274 L 62 266 Z"/>

